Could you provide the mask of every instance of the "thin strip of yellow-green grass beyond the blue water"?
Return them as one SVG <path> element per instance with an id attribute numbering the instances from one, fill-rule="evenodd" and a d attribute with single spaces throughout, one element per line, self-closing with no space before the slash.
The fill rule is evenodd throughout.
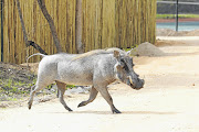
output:
<path id="1" fill-rule="evenodd" d="M 176 14 L 156 14 L 156 19 L 175 19 Z M 178 14 L 179 19 L 197 19 L 199 14 Z"/>

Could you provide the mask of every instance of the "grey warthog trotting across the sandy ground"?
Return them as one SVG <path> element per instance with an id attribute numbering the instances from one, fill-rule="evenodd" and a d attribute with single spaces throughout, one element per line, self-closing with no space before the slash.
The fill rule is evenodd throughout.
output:
<path id="1" fill-rule="evenodd" d="M 28 102 L 29 109 L 31 109 L 34 94 L 55 81 L 60 90 L 60 102 L 69 111 L 72 109 L 63 99 L 66 84 L 92 86 L 88 100 L 82 101 L 77 107 L 92 102 L 100 92 L 111 106 L 112 112 L 121 113 L 113 103 L 107 86 L 115 80 L 121 80 L 134 89 L 140 89 L 144 86 L 144 80 L 139 79 L 133 69 L 133 58 L 118 51 L 95 51 L 81 55 L 66 53 L 34 55 L 42 55 L 43 58 L 39 64 L 35 88 L 31 91 Z"/>

